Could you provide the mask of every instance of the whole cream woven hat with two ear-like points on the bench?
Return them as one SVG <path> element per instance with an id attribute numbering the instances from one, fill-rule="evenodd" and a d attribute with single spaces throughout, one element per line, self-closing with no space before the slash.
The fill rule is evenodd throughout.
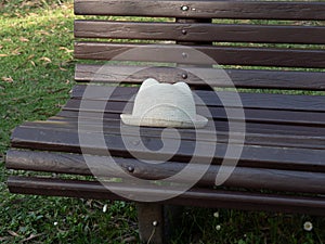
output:
<path id="1" fill-rule="evenodd" d="M 203 128 L 208 119 L 196 114 L 194 98 L 185 82 L 159 84 L 148 78 L 135 95 L 132 114 L 121 114 L 131 126 Z"/>

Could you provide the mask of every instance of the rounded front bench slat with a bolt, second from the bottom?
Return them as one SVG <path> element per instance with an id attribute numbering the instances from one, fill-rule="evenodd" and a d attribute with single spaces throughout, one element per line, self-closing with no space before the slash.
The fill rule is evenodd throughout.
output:
<path id="1" fill-rule="evenodd" d="M 34 152 L 10 150 L 8 152 L 6 168 L 16 170 L 48 171 L 56 174 L 77 174 L 106 178 L 121 178 L 125 176 L 116 170 L 113 165 L 120 167 L 122 171 L 138 179 L 151 181 L 164 179 L 166 182 L 182 169 L 184 164 L 168 162 L 164 164 L 144 163 L 133 158 L 102 157 L 87 155 L 87 162 L 81 154 Z M 187 168 L 188 175 L 181 179 L 181 183 L 191 184 L 190 177 L 199 172 L 202 165 L 192 164 Z M 132 169 L 130 171 L 129 169 Z M 290 170 L 236 167 L 222 187 L 245 188 L 250 190 L 273 190 L 299 193 L 325 193 L 325 165 L 313 168 L 306 165 L 303 171 L 292 167 Z M 220 166 L 212 165 L 207 172 L 195 183 L 196 187 L 214 187 L 216 177 Z"/>

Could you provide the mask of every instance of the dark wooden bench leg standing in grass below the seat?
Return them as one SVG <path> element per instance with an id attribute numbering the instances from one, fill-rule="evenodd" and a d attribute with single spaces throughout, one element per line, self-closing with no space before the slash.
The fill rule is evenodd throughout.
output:
<path id="1" fill-rule="evenodd" d="M 181 218 L 182 207 L 136 204 L 140 239 L 144 243 L 168 243 Z"/>

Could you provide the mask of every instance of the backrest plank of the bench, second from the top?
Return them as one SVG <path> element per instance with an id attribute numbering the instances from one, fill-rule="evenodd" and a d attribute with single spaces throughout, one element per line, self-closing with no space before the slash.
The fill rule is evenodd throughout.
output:
<path id="1" fill-rule="evenodd" d="M 325 43 L 325 27 L 75 21 L 75 37 L 322 44 Z"/>

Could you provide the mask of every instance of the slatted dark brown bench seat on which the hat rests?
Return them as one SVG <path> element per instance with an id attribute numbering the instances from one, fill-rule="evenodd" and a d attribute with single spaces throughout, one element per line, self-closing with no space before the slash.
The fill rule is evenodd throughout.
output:
<path id="1" fill-rule="evenodd" d="M 11 140 L 12 149 L 6 155 L 8 168 L 80 176 L 92 176 L 94 172 L 99 176 L 102 171 L 106 177 L 122 177 L 117 175 L 114 168 L 109 170 L 102 165 L 103 162 L 112 160 L 107 157 L 103 160 L 106 146 L 91 147 L 89 145 L 87 152 L 92 153 L 89 156 L 93 157 L 94 162 L 99 162 L 98 165 L 92 166 L 91 170 L 81 155 L 82 150 L 78 141 L 80 133 L 95 134 L 101 131 L 100 129 L 103 129 L 105 141 L 114 157 L 113 160 L 132 176 L 147 180 L 164 179 L 177 174 L 191 159 L 191 144 L 195 140 L 193 129 L 179 130 L 182 136 L 181 143 L 184 146 L 181 146 L 181 150 L 168 163 L 152 165 L 148 168 L 143 162 L 132 158 L 130 152 L 125 149 L 120 136 L 119 114 L 130 112 L 123 108 L 132 94 L 136 93 L 138 88 L 106 87 L 105 89 L 108 90 L 115 89 L 116 95 L 112 97 L 112 101 L 105 101 L 100 92 L 95 92 L 96 98 L 82 99 L 83 108 L 80 108 L 84 89 L 86 86 L 76 86 L 72 92 L 72 99 L 56 116 L 47 121 L 25 123 L 14 130 Z M 94 86 L 93 89 L 99 89 L 99 87 Z M 103 91 L 103 88 L 101 90 Z M 208 171 L 196 185 L 183 196 L 169 200 L 167 203 L 234 207 L 236 204 L 231 204 L 233 201 L 242 203 L 245 198 L 245 204 L 236 208 L 281 209 L 318 215 L 325 213 L 325 100 L 322 97 L 240 93 L 247 123 L 245 146 L 232 176 L 222 187 L 214 187 L 214 178 L 220 169 L 220 162 L 224 157 L 229 140 L 227 121 L 238 118 L 225 117 L 221 104 L 211 99 L 216 94 L 214 91 L 197 90 L 195 93 L 207 102 L 211 111 L 212 117 L 209 120 L 216 126 L 218 137 L 216 154 Z M 230 98 L 231 93 L 230 91 L 221 92 L 222 95 Z M 260 101 L 260 103 L 257 104 L 255 101 Z M 96 108 L 99 102 L 108 103 L 103 120 Z M 86 116 L 82 120 L 89 124 L 89 128 L 84 126 L 82 131 L 78 130 L 80 110 L 87 112 L 82 113 L 82 116 Z M 197 111 L 199 111 L 199 104 L 197 104 Z M 135 140 L 138 128 L 122 126 L 127 127 L 128 134 L 125 137 L 130 141 Z M 207 144 L 214 143 L 212 139 L 209 139 L 209 129 L 207 127 L 197 131 L 204 134 L 204 143 Z M 161 128 L 144 129 L 141 136 L 145 145 L 151 149 L 158 145 L 161 131 Z M 173 134 L 169 134 L 165 140 L 176 139 Z M 235 140 L 233 143 L 236 143 Z M 136 152 L 136 146 L 134 152 Z M 151 157 L 151 153 L 147 155 L 146 152 L 141 153 L 143 157 Z M 199 162 L 194 166 L 199 167 Z M 128 171 L 130 167 L 132 171 Z M 76 181 L 49 177 L 13 176 L 9 178 L 8 184 L 11 192 L 27 194 L 120 198 L 114 192 L 105 191 L 105 188 L 95 179 Z M 129 194 L 166 194 L 164 188 L 154 184 L 152 185 L 153 192 L 122 183 L 109 182 L 109 184 Z M 230 191 L 225 191 L 224 188 L 229 188 Z M 297 195 L 292 196 L 294 192 Z M 202 197 L 202 201 L 195 201 L 196 197 Z"/>

